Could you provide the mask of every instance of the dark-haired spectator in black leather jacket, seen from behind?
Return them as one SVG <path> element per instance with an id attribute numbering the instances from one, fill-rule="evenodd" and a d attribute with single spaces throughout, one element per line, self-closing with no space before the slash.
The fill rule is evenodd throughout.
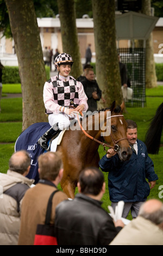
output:
<path id="1" fill-rule="evenodd" d="M 55 231 L 59 245 L 108 245 L 123 227 L 115 224 L 100 201 L 105 192 L 101 170 L 87 168 L 79 175 L 79 193 L 73 200 L 61 202 L 55 213 Z"/>

